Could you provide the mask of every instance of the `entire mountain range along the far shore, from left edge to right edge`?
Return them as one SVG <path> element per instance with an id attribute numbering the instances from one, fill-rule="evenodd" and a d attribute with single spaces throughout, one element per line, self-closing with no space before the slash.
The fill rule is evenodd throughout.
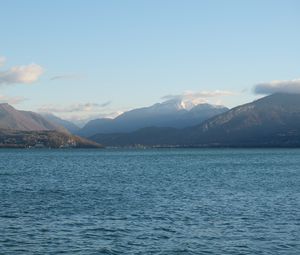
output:
<path id="1" fill-rule="evenodd" d="M 81 133 L 88 139 L 71 133 Z M 98 119 L 83 129 L 50 114 L 0 104 L 0 147 L 300 147 L 300 94 L 228 109 L 169 100 Z"/>

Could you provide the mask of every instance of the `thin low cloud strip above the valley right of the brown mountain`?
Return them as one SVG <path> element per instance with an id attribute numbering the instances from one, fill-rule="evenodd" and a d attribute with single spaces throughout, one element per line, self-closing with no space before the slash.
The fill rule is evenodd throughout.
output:
<path id="1" fill-rule="evenodd" d="M 89 113 L 89 112 L 97 112 L 110 104 L 111 104 L 111 102 L 107 101 L 102 104 L 85 103 L 85 104 L 73 104 L 73 105 L 64 106 L 64 107 L 46 105 L 46 106 L 40 107 L 38 110 L 40 112 L 52 112 L 52 113 L 74 113 L 74 112 Z"/>

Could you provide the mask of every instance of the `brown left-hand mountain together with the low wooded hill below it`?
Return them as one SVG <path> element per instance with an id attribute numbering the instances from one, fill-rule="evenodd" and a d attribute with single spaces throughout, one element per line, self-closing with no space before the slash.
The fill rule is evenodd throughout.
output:
<path id="1" fill-rule="evenodd" d="M 0 104 L 0 148 L 100 148 L 101 145 L 71 135 L 67 129 L 30 111 Z"/>

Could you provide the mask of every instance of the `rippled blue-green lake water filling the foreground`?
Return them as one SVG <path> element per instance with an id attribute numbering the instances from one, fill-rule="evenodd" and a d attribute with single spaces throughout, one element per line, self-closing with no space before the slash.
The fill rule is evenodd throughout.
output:
<path id="1" fill-rule="evenodd" d="M 0 254 L 300 254 L 300 150 L 0 150 Z"/>

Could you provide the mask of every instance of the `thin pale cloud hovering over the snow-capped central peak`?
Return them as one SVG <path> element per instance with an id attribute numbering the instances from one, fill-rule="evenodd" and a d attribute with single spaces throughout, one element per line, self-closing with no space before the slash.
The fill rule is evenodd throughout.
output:
<path id="1" fill-rule="evenodd" d="M 179 95 L 166 95 L 162 97 L 163 100 L 176 100 L 176 101 L 189 101 L 193 104 L 207 103 L 208 98 L 222 97 L 222 96 L 232 96 L 235 95 L 231 91 L 215 90 L 215 91 L 201 91 L 192 92 L 186 91 Z"/>

